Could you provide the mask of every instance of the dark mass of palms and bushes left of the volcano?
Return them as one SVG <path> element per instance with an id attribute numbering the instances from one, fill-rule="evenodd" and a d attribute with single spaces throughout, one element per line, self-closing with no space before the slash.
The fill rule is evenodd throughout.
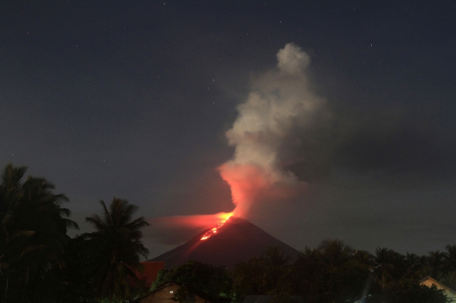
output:
<path id="1" fill-rule="evenodd" d="M 68 198 L 52 183 L 8 164 L 0 177 L 0 302 L 124 302 L 144 288 L 135 276 L 144 218 L 138 207 L 114 198 L 102 215 L 86 220 L 95 232 L 74 239 L 79 228 L 62 208 Z"/>

